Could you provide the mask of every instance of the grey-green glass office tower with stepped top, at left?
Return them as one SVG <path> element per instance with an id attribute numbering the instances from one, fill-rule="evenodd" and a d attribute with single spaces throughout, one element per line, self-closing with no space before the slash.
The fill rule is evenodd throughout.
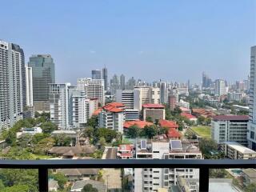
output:
<path id="1" fill-rule="evenodd" d="M 50 110 L 48 97 L 50 83 L 55 83 L 54 59 L 50 54 L 32 55 L 28 66 L 32 67 L 34 109 Z"/>

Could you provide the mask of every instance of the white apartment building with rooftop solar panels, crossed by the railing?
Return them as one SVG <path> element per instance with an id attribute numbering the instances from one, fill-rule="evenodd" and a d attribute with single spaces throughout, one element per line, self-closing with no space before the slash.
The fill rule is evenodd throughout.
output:
<path id="1" fill-rule="evenodd" d="M 202 153 L 190 142 L 180 140 L 137 140 L 135 158 L 138 159 L 201 159 Z M 134 192 L 158 191 L 159 188 L 169 189 L 177 185 L 178 177 L 199 178 L 198 169 L 147 168 L 134 169 Z"/>

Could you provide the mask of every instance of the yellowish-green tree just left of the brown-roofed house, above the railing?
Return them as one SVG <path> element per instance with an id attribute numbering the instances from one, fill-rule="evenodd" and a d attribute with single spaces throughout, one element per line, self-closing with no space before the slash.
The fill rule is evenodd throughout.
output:
<path id="1" fill-rule="evenodd" d="M 54 138 L 43 138 L 34 146 L 34 154 L 46 154 L 54 146 Z"/>

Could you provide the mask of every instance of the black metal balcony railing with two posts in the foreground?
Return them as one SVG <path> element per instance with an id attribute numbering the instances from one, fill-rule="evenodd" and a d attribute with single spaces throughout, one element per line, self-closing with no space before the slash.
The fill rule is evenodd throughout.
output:
<path id="1" fill-rule="evenodd" d="M 209 169 L 256 168 L 256 160 L 204 159 L 86 159 L 0 160 L 0 168 L 38 169 L 39 191 L 48 191 L 48 170 L 68 168 L 198 168 L 199 190 L 209 190 Z"/>

